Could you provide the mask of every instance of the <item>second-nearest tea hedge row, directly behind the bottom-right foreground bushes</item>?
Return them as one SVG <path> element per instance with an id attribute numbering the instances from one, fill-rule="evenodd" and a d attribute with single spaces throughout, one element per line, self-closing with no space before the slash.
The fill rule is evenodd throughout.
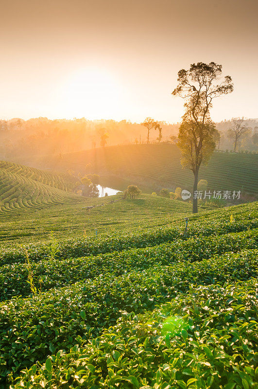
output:
<path id="1" fill-rule="evenodd" d="M 115 324 L 120 310 L 142 313 L 196 285 L 232 283 L 256 277 L 257 250 L 226 253 L 209 260 L 178 262 L 100 275 L 52 289 L 34 298 L 0 303 L 0 372 L 5 379 L 59 349 L 69 350 Z"/>

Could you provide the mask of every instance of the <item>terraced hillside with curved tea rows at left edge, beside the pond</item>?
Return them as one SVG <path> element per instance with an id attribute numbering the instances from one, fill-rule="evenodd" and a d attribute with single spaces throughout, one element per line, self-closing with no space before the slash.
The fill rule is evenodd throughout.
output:
<path id="1" fill-rule="evenodd" d="M 73 185 L 63 175 L 0 161 L 0 220 L 78 202 L 81 198 L 71 192 Z"/>

